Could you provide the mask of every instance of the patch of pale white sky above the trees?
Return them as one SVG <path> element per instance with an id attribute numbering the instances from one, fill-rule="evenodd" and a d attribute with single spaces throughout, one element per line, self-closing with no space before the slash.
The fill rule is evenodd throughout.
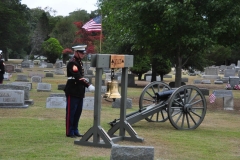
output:
<path id="1" fill-rule="evenodd" d="M 88 13 L 97 9 L 97 0 L 21 0 L 28 8 L 50 7 L 56 10 L 56 16 L 68 16 L 70 12 L 78 9 L 86 10 Z"/>

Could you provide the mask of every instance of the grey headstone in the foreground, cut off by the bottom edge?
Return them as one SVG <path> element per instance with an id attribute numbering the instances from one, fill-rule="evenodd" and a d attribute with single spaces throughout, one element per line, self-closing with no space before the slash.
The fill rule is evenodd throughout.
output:
<path id="1" fill-rule="evenodd" d="M 110 160 L 154 160 L 154 147 L 113 145 Z"/>

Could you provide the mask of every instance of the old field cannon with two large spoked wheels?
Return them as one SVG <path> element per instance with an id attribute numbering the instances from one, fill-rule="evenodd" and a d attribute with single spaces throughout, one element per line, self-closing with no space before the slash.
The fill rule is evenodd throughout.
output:
<path id="1" fill-rule="evenodd" d="M 207 103 L 202 91 L 192 85 L 172 89 L 160 81 L 149 83 L 139 98 L 139 110 L 126 115 L 126 121 L 134 124 L 142 119 L 147 122 L 170 121 L 178 130 L 196 129 L 204 120 Z M 119 119 L 109 122 L 111 127 Z"/>

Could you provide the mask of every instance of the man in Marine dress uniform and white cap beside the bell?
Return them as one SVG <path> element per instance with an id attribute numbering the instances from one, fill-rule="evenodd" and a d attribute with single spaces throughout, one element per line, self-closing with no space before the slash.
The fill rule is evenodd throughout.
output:
<path id="1" fill-rule="evenodd" d="M 84 78 L 82 59 L 85 57 L 87 45 L 72 47 L 74 56 L 67 64 L 67 83 L 64 89 L 66 106 L 66 136 L 75 138 L 82 137 L 78 130 L 78 123 L 83 108 L 83 98 L 85 97 L 85 87 L 93 92 L 95 87 Z"/>

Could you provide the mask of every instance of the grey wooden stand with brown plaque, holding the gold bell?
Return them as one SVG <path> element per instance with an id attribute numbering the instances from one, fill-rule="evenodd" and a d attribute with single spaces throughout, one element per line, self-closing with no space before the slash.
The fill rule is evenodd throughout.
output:
<path id="1" fill-rule="evenodd" d="M 130 140 L 137 142 L 143 141 L 143 138 L 138 137 L 137 133 L 126 121 L 128 68 L 132 66 L 133 55 L 92 55 L 91 67 L 96 67 L 93 126 L 83 135 L 80 140 L 75 140 L 74 144 L 111 148 L 114 145 L 114 142 L 120 140 Z M 103 68 L 122 68 L 120 122 L 117 125 L 113 126 L 108 131 L 108 134 L 100 126 Z M 118 136 L 114 135 L 117 130 L 119 130 Z M 125 135 L 126 131 L 129 134 L 128 137 Z"/>

